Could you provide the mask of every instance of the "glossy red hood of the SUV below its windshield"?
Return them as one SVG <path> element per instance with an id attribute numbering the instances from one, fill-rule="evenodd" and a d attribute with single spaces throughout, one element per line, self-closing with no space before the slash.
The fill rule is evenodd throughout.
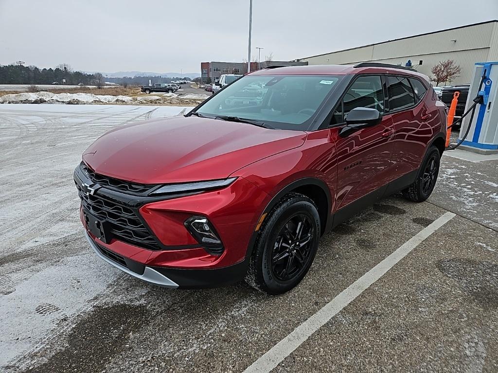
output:
<path id="1" fill-rule="evenodd" d="M 175 116 L 114 129 L 83 160 L 98 174 L 141 184 L 215 180 L 305 139 L 303 131 Z"/>

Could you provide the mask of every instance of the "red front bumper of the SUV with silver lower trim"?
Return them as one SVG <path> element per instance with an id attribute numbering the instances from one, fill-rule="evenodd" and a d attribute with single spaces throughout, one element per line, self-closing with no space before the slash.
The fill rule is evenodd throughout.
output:
<path id="1" fill-rule="evenodd" d="M 75 171 L 74 179 L 82 200 L 92 197 L 109 211 L 119 207 L 121 213 L 136 214 L 136 219 L 127 219 L 135 224 L 140 222 L 142 231 L 146 230 L 153 238 L 142 240 L 147 244 L 144 247 L 140 241 L 120 235 L 114 230 L 119 228 L 116 225 L 112 227 L 110 239 L 96 237 L 85 220 L 84 209 L 88 211 L 88 206 L 82 206 L 80 218 L 87 239 L 99 257 L 114 267 L 138 279 L 170 288 L 213 287 L 244 278 L 249 241 L 269 198 L 246 179 L 239 178 L 222 189 L 171 199 L 130 195 L 97 184 L 90 185 L 90 189 L 97 189 L 83 197 L 82 186 L 92 184 L 92 181 L 79 169 Z M 187 231 L 184 222 L 195 215 L 207 217 L 219 233 L 224 247 L 222 254 L 210 252 Z M 109 217 L 116 224 L 124 222 L 121 217 Z M 106 219 L 106 216 L 99 218 Z M 116 260 L 117 257 L 121 259 Z"/>

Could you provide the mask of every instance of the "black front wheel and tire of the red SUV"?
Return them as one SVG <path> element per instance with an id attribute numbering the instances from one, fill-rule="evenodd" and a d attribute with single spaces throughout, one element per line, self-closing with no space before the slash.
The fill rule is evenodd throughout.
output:
<path id="1" fill-rule="evenodd" d="M 307 196 L 289 193 L 264 219 L 246 282 L 271 295 L 296 286 L 313 263 L 320 238 L 320 216 Z"/>

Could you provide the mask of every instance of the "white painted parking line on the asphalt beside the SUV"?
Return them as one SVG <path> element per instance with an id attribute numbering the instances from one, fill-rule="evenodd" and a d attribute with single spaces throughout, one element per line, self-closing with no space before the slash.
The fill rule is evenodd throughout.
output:
<path id="1" fill-rule="evenodd" d="M 408 253 L 416 248 L 423 240 L 429 237 L 437 229 L 450 221 L 454 216 L 452 212 L 447 212 L 427 227 L 418 232 L 415 236 L 406 241 L 396 251 L 385 258 L 382 262 L 373 267 L 361 278 L 353 282 L 348 288 L 337 295 L 322 309 L 311 316 L 308 320 L 299 325 L 292 333 L 278 342 L 268 352 L 252 363 L 245 373 L 270 372 L 280 364 L 287 356 L 297 349 L 313 333 L 338 314 L 344 307 L 351 303 L 363 291 L 365 291 L 376 280 L 380 279 L 396 263 L 403 259 Z"/>

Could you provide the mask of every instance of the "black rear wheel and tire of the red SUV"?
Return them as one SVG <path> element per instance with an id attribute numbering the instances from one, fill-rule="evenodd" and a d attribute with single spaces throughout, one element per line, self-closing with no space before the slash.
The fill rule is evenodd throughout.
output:
<path id="1" fill-rule="evenodd" d="M 431 195 L 439 175 L 439 150 L 431 146 L 420 165 L 415 182 L 402 190 L 403 196 L 414 202 L 423 202 Z"/>

